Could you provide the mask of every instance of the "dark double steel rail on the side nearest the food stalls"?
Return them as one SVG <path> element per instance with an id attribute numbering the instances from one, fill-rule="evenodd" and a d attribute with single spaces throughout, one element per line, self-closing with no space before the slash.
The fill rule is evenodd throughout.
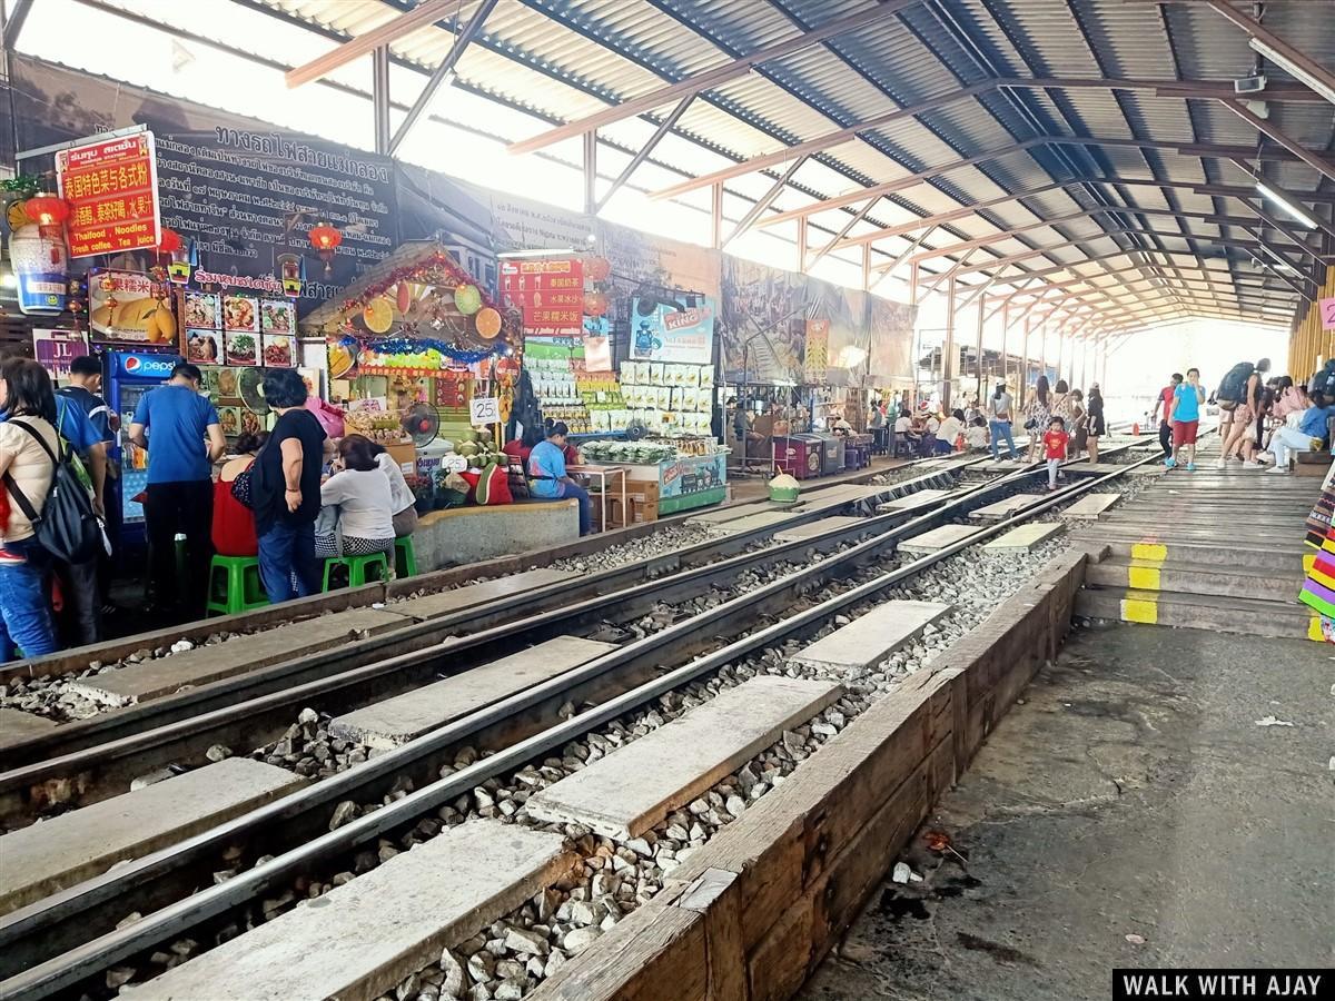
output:
<path id="1" fill-rule="evenodd" d="M 84 803 L 112 795 L 152 769 L 200 762 L 214 745 L 231 747 L 247 741 L 264 743 L 278 739 L 296 710 L 307 705 L 319 703 L 332 711 L 400 694 L 438 679 L 446 666 L 457 671 L 503 657 L 527 643 L 598 626 L 609 617 L 609 607 L 619 609 L 618 615 L 623 619 L 649 614 L 659 602 L 706 594 L 721 585 L 726 587 L 729 581 L 748 569 L 813 549 L 829 551 L 848 539 L 873 533 L 881 533 L 870 539 L 876 547 L 894 545 L 904 531 L 920 531 L 929 521 L 943 522 L 964 506 L 1016 488 L 1028 475 L 1032 474 L 1017 471 L 959 491 L 948 503 L 918 518 L 913 518 L 912 509 L 876 515 L 818 537 L 782 542 L 633 585 L 609 597 L 571 602 L 570 583 L 557 582 L 535 589 L 534 594 L 497 603 L 505 607 L 443 615 L 331 651 L 298 657 L 56 727 L 0 754 L 0 762 L 9 766 L 0 773 L 0 822 L 13 826 L 25 815 L 53 805 Z M 621 571 L 611 571 L 607 579 L 615 573 Z M 583 579 L 578 583 L 587 586 Z M 515 606 L 537 606 L 538 610 L 513 621 L 510 610 Z M 458 637 L 461 630 L 473 631 Z M 284 707 L 291 707 L 286 715 Z"/>

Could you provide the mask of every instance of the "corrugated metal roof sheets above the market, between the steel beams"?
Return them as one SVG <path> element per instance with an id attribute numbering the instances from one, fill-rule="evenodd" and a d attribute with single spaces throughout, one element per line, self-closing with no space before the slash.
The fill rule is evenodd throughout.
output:
<path id="1" fill-rule="evenodd" d="M 128 8 L 151 0 L 116 0 Z M 481 37 L 458 64 L 473 89 L 523 108 L 550 121 L 577 121 L 617 103 L 631 100 L 693 75 L 728 64 L 737 56 L 768 48 L 834 19 L 872 9 L 878 0 L 501 0 Z M 356 36 L 391 21 L 415 0 L 235 0 L 248 8 L 270 8 L 320 25 L 339 36 Z M 454 33 L 478 0 L 434 25 L 391 44 L 396 57 L 423 69 L 450 51 Z M 1250 13 L 1250 5 L 1247 12 Z M 1239 8 L 1242 9 L 1242 8 Z M 1335 65 L 1335 0 L 1272 3 L 1266 25 L 1303 48 L 1318 63 Z M 876 17 L 857 31 L 800 48 L 762 63 L 700 95 L 674 132 L 654 149 L 631 184 L 659 184 L 672 176 L 704 176 L 730 163 L 774 153 L 786 145 L 820 139 L 838 128 L 884 115 L 906 104 L 934 100 L 961 87 L 997 77 L 1059 77 L 1103 81 L 1204 80 L 1227 83 L 1252 72 L 1256 53 L 1238 27 L 1200 3 L 1133 3 L 1131 0 L 918 0 Z M 1279 67 L 1264 72 L 1278 83 L 1294 81 Z M 342 79 L 342 77 L 340 77 Z M 655 109 L 658 120 L 672 101 Z M 1308 149 L 1330 159 L 1335 120 L 1324 103 L 1271 101 L 1270 123 Z M 499 119 L 521 128 L 533 117 Z M 535 129 L 542 128 L 534 124 Z M 646 141 L 653 123 L 630 119 L 601 132 L 627 153 Z M 1035 144 L 1000 152 L 1036 136 L 1136 139 L 1167 144 L 1132 145 Z M 502 136 L 509 141 L 527 135 Z M 1117 186 L 1116 178 L 1179 184 L 1248 186 L 1247 171 L 1226 156 L 1177 152 L 1172 145 L 1215 144 L 1255 151 L 1255 128 L 1219 101 L 1206 97 L 1156 95 L 1152 89 L 1112 91 L 1099 87 L 1048 89 L 995 88 L 955 100 L 916 117 L 868 129 L 818 151 L 793 176 L 794 187 L 774 199 L 770 212 L 816 206 L 810 244 L 822 246 L 842 228 L 858 202 L 820 211 L 824 199 L 861 187 L 884 184 L 909 174 L 932 171 L 967 157 L 985 157 L 955 168 L 881 199 L 853 235 L 872 226 L 902 226 L 913 218 L 959 211 L 1059 182 L 1107 179 L 1112 183 L 1072 186 L 1021 202 L 980 210 L 980 215 L 948 223 L 925 246 L 949 246 L 1055 219 L 1099 204 L 1172 210 L 1197 215 L 1250 216 L 1235 199 L 1197 194 L 1189 187 Z M 1274 149 L 1274 143 L 1266 145 Z M 1254 165 L 1250 161 L 1250 167 Z M 784 164 L 729 179 L 733 199 L 764 196 Z M 1267 179 L 1296 198 L 1314 192 L 1320 176 L 1291 157 L 1267 160 Z M 1327 191 L 1330 183 L 1324 182 Z M 698 204 L 697 198 L 692 198 Z M 732 211 L 732 208 L 730 208 Z M 1216 264 L 1220 228 L 1203 219 L 1147 215 L 1149 228 L 1180 236 L 1136 239 L 1135 246 L 1173 254 L 1200 250 L 1203 264 Z M 993 244 L 1027 254 L 1065 243 L 1072 235 L 1097 236 L 1111 227 L 1096 216 L 1053 228 L 1036 228 Z M 1228 227 L 1239 239 L 1238 227 Z M 794 231 L 796 232 L 796 231 Z M 1065 235 L 1063 235 L 1065 234 Z M 1243 234 L 1244 236 L 1244 234 Z M 886 238 L 877 256 L 901 252 L 912 240 Z M 1287 238 L 1284 238 L 1287 242 Z M 1133 246 L 1117 236 L 1117 246 Z M 1099 254 L 1115 244 L 1101 240 Z M 1093 251 L 1091 251 L 1093 252 Z M 977 259 L 996 256 L 989 251 Z M 1081 248 L 1048 251 L 1011 266 L 1009 272 L 1044 270 L 1076 262 Z M 1219 264 L 1230 283 L 1234 274 L 1260 284 L 1268 282 L 1279 302 L 1291 300 L 1287 286 L 1250 266 L 1246 250 L 1232 252 L 1235 268 Z M 1187 260 L 1176 258 L 1185 264 Z M 1117 266 L 1109 260 L 1084 274 Z M 972 272 L 971 272 L 972 274 Z M 1288 296 L 1288 299 L 1286 299 Z M 1251 308 L 1251 307 L 1250 307 Z"/>

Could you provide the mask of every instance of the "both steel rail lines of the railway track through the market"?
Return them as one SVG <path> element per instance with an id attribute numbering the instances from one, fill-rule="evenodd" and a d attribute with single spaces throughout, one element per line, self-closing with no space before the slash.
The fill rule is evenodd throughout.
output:
<path id="1" fill-rule="evenodd" d="M 0 982 L 0 998 L 44 997 L 63 992 L 104 973 L 127 957 L 179 936 L 207 930 L 284 881 L 320 868 L 322 860 L 355 853 L 360 846 L 411 826 L 425 814 L 441 810 L 451 801 L 469 795 L 481 783 L 511 773 L 545 751 L 559 749 L 587 734 L 591 727 L 716 674 L 738 658 L 801 635 L 967 546 L 1068 503 L 1093 486 L 1111 482 L 1120 472 L 1076 482 L 1031 505 L 1021 514 L 981 529 L 967 541 L 902 562 L 889 573 L 881 573 L 874 561 L 892 554 L 900 541 L 952 518 L 965 517 L 971 510 L 1013 492 L 1039 471 L 1021 470 L 959 490 L 943 498 L 941 503 L 930 505 L 932 510 L 910 511 L 906 518 L 901 514 L 874 515 L 861 525 L 840 526 L 808 539 L 741 553 L 634 583 L 617 595 L 618 607 L 629 611 L 630 618 L 654 603 L 698 601 L 702 593 L 720 582 L 754 573 L 761 566 L 773 566 L 778 559 L 801 557 L 805 562 L 813 553 L 822 557 L 806 565 L 782 566 L 772 579 L 752 578 L 746 586 L 736 589 L 740 593 L 732 593 L 725 601 L 623 643 L 550 681 L 501 698 L 410 743 L 331 774 L 242 817 L 15 910 L 0 920 L 0 976 L 8 977 Z M 818 517 L 830 513 L 826 510 Z M 631 579 L 638 573 L 647 577 L 645 567 L 637 567 L 635 573 L 622 570 Z M 829 597 L 813 599 L 810 595 L 817 590 Z M 569 589 L 566 591 L 569 601 Z M 439 658 L 445 655 L 462 658 L 471 654 L 469 663 L 486 662 L 515 645 L 606 621 L 607 605 L 606 595 L 574 601 L 559 613 L 547 607 L 525 619 L 485 626 L 470 637 L 445 643 L 434 639 L 434 645 L 391 653 L 388 658 L 383 658 L 383 639 L 363 641 L 380 646 L 380 661 L 336 667 L 323 674 L 316 671 L 316 677 L 311 677 L 318 665 L 308 661 L 319 658 L 299 658 L 291 665 L 242 675 L 224 685 L 226 691 L 220 689 L 207 698 L 202 698 L 202 689 L 147 703 L 138 714 L 107 714 L 103 719 L 116 717 L 120 722 L 115 727 L 97 719 L 89 722 L 100 722 L 104 734 L 124 735 L 85 743 L 55 758 L 32 758 L 29 763 L 0 775 L 0 787 L 11 799 L 23 799 L 21 790 L 27 790 L 28 803 L 48 802 L 43 795 L 31 795 L 32 790 L 49 793 L 57 787 L 79 790 L 73 795 L 77 802 L 81 802 L 80 795 L 95 801 L 113 790 L 113 777 L 123 778 L 129 762 L 135 767 L 144 766 L 146 755 L 148 761 L 190 758 L 199 753 L 203 743 L 216 742 L 220 734 L 232 739 L 235 746 L 263 746 L 268 743 L 263 737 L 291 726 L 298 707 L 310 709 L 310 703 L 319 702 L 342 711 L 411 690 L 435 681 Z M 553 621 L 554 615 L 559 615 L 559 621 Z M 439 637 L 451 626 L 459 629 L 461 622 L 419 623 L 411 627 L 413 638 Z M 338 655 L 334 654 L 334 659 Z M 215 698 L 223 705 L 210 702 Z M 203 714 L 191 711 L 200 706 L 207 707 Z M 583 710 L 566 718 L 575 706 Z M 167 715 L 176 717 L 162 723 L 164 710 Z M 139 729 L 125 723 L 127 719 L 138 719 Z M 73 731 L 76 726 L 60 729 Z M 85 727 L 81 733 L 91 729 Z M 442 778 L 442 769 L 450 770 L 451 762 L 457 762 L 457 749 L 474 745 L 494 753 Z M 407 791 L 410 789 L 413 791 Z M 331 814 L 340 803 L 380 801 L 387 801 L 387 805 L 330 830 Z M 276 857 L 260 861 L 266 856 Z M 235 876 L 210 885 L 212 873 L 232 868 L 236 869 Z M 117 928 L 128 914 L 147 917 Z"/>

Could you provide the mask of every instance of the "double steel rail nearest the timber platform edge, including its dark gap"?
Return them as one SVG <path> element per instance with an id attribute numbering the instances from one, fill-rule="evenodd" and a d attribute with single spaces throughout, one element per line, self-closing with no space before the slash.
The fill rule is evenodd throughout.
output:
<path id="1" fill-rule="evenodd" d="M 1020 522 L 1069 502 L 1117 475 L 1120 472 L 1073 484 L 1023 514 L 980 527 L 968 539 L 953 546 L 848 587 L 796 614 L 785 615 L 792 609 L 793 594 L 820 585 L 825 571 L 832 569 L 829 565 L 856 566 L 858 557 L 874 555 L 874 551 L 884 546 L 882 539 L 858 543 L 838 557 L 800 570 L 765 585 L 754 594 L 734 598 L 696 617 L 698 621 L 690 622 L 693 630 L 713 626 L 729 617 L 753 619 L 757 614 L 781 615 L 777 621 L 749 635 L 732 639 L 682 667 L 663 673 L 661 666 L 659 651 L 665 643 L 669 639 L 684 638 L 681 625 L 669 626 L 653 637 L 630 643 L 551 682 L 506 698 L 356 769 L 16 912 L 0 924 L 0 946 L 3 946 L 0 954 L 5 957 L 4 964 L 8 968 L 4 970 L 5 974 L 11 974 L 9 980 L 0 984 L 0 997 L 47 996 L 97 976 L 128 956 L 203 928 L 214 918 L 243 908 L 250 901 L 283 886 L 291 878 L 310 873 L 312 866 L 324 865 L 322 860 L 327 860 L 331 854 L 355 853 L 387 833 L 411 827 L 425 815 L 441 810 L 462 795 L 471 794 L 487 781 L 522 769 L 526 763 L 541 759 L 546 751 L 579 739 L 591 727 L 607 725 L 682 685 L 713 675 L 738 658 L 789 637 L 801 635 L 829 617 L 896 587 L 967 546 L 1008 531 Z M 921 531 L 929 527 L 932 521 L 930 515 L 914 519 L 916 529 Z M 689 657 L 693 651 L 681 653 Z M 618 678 L 625 678 L 629 673 L 638 673 L 639 677 L 634 679 L 633 687 L 629 683 L 618 685 L 615 694 L 611 694 L 605 682 L 606 675 L 614 669 Z M 589 698 L 599 697 L 605 701 L 574 718 L 553 723 L 553 719 L 559 719 L 557 713 L 561 705 L 566 702 L 583 705 Z M 489 731 L 494 735 L 509 733 L 510 739 L 502 737 L 498 742 L 502 746 L 495 754 L 469 763 L 457 773 L 446 774 L 445 778 L 437 778 L 442 766 L 453 767 L 454 749 L 466 743 L 486 743 Z M 403 785 L 406 777 L 414 782 L 427 783 L 407 793 Z M 331 814 L 339 803 L 347 799 L 375 802 L 394 793 L 395 785 L 398 793 L 406 793 L 402 798 L 392 799 L 372 813 L 355 817 L 334 830 L 328 829 Z M 279 841 L 295 841 L 296 845 L 283 850 L 278 845 Z M 182 898 L 183 894 L 208 882 L 207 874 L 211 868 L 216 870 L 218 856 L 230 848 L 235 850 L 236 845 L 246 842 L 283 850 L 283 854 L 240 872 L 226 882 L 207 886 L 191 897 Z M 251 857 L 259 854 L 258 848 L 251 848 L 250 852 Z M 147 916 L 124 928 L 116 928 L 129 912 Z M 87 941 L 89 934 L 100 937 Z"/>

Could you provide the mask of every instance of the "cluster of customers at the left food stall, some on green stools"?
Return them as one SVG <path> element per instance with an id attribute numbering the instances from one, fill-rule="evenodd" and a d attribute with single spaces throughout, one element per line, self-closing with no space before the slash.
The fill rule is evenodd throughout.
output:
<path id="1" fill-rule="evenodd" d="M 101 366 L 76 358 L 68 387 L 56 391 L 36 362 L 0 363 L 0 662 L 21 651 L 101 638 L 108 605 L 115 505 L 107 503 L 107 446 L 115 428 L 99 395 Z M 417 525 L 413 492 L 384 448 L 363 435 L 336 440 L 307 406 L 291 368 L 264 372 L 274 427 L 238 438 L 227 451 L 218 411 L 200 392 L 202 374 L 178 364 L 146 392 L 127 431 L 148 450 L 143 494 L 150 554 L 146 609 L 164 621 L 203 611 L 211 557 L 254 557 L 271 602 L 316 594 L 322 557 L 386 553 Z M 71 563 L 39 541 L 57 462 L 72 452 L 103 523 L 101 551 Z M 108 515 L 112 515 L 108 518 Z M 184 538 L 178 581 L 176 541 Z M 63 619 L 63 621 L 57 621 Z"/>

